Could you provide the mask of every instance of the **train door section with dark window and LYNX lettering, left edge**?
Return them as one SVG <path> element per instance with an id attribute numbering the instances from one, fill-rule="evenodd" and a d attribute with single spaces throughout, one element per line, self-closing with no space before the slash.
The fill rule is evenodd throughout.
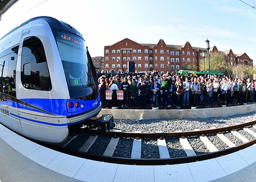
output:
<path id="1" fill-rule="evenodd" d="M 16 62 L 16 52 L 0 58 L 0 121 L 22 134 L 16 102 Z"/>

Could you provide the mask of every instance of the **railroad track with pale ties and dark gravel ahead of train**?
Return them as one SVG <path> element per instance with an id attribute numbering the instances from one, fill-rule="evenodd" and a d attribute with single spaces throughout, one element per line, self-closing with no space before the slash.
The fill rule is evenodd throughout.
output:
<path id="1" fill-rule="evenodd" d="M 165 165 L 227 155 L 256 143 L 256 121 L 197 131 L 81 133 L 61 147 L 70 155 L 118 164 Z M 123 143 L 126 143 L 123 147 Z"/>

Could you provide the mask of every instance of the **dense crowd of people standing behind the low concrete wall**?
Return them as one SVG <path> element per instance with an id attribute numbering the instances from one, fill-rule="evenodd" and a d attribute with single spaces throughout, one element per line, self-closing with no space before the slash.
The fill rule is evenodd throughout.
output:
<path id="1" fill-rule="evenodd" d="M 165 74 L 101 75 L 98 80 L 103 108 L 111 108 L 116 103 L 106 100 L 106 90 L 123 91 L 123 100 L 118 100 L 118 108 L 181 109 L 235 106 L 256 100 L 255 81 L 251 78 L 228 76 L 178 75 L 167 71 Z"/>

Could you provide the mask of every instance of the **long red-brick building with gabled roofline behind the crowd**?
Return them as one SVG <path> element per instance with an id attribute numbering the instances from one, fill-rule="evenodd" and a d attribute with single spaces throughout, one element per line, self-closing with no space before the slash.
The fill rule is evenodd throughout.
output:
<path id="1" fill-rule="evenodd" d="M 137 71 L 161 72 L 178 71 L 187 64 L 193 64 L 199 68 L 199 61 L 203 59 L 202 51 L 206 48 L 192 47 L 187 41 L 184 45 L 166 45 L 163 39 L 157 44 L 139 44 L 128 38 L 104 48 L 104 70 L 112 68 L 119 70 L 128 69 L 128 61 L 135 62 Z M 253 66 L 252 59 L 246 54 L 234 54 L 229 51 L 218 51 L 214 45 L 211 52 L 223 54 L 228 65 Z"/>

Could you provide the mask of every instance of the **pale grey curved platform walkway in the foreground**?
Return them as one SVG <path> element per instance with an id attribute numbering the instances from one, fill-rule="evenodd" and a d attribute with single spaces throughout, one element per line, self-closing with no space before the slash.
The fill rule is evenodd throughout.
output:
<path id="1" fill-rule="evenodd" d="M 39 146 L 0 124 L 0 182 L 256 182 L 256 145 L 201 162 L 135 166 Z"/>

